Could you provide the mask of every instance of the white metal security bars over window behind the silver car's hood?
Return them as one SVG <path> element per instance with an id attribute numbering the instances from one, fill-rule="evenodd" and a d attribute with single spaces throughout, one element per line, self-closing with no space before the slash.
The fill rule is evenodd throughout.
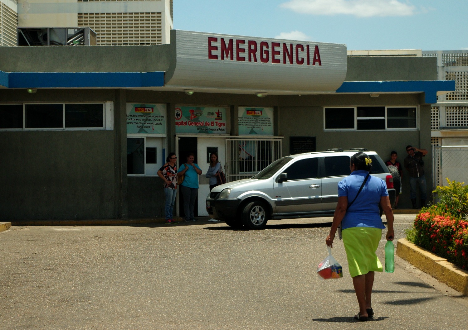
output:
<path id="1" fill-rule="evenodd" d="M 281 158 L 282 137 L 226 139 L 227 182 L 250 178 Z"/>

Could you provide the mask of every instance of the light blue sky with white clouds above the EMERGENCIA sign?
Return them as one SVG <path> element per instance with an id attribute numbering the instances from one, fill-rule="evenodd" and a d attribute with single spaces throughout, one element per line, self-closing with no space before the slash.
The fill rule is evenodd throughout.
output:
<path id="1" fill-rule="evenodd" d="M 174 0 L 174 29 L 348 50 L 468 50 L 468 0 Z"/>

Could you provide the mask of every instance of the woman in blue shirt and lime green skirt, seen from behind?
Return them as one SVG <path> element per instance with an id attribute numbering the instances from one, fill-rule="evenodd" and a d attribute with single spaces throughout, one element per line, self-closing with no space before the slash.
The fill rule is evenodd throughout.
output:
<path id="1" fill-rule="evenodd" d="M 388 241 L 393 241 L 393 211 L 388 198 L 387 185 L 370 175 L 372 159 L 364 152 L 351 157 L 351 175 L 338 183 L 338 204 L 325 242 L 333 247 L 338 226 L 342 225 L 344 250 L 349 264 L 359 313 L 356 320 L 373 317 L 372 287 L 374 272 L 382 272 L 382 264 L 375 254 L 385 226 L 380 218 L 379 203 L 387 219 Z"/>

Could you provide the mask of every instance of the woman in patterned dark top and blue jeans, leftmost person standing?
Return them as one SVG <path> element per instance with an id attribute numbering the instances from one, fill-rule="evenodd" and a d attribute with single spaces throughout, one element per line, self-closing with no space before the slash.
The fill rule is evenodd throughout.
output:
<path id="1" fill-rule="evenodd" d="M 177 167 L 176 167 L 176 154 L 171 152 L 166 158 L 166 164 L 158 171 L 159 177 L 164 181 L 164 196 L 166 203 L 164 205 L 164 213 L 166 216 L 166 224 L 179 223 L 174 221 L 174 203 L 176 202 L 177 195 Z"/>

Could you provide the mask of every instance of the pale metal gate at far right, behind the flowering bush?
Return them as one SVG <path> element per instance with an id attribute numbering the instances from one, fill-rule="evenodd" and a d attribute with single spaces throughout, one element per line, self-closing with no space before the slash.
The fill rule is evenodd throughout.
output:
<path id="1" fill-rule="evenodd" d="M 468 184 L 468 146 L 432 146 L 433 184 L 447 186 L 446 178 Z"/>

